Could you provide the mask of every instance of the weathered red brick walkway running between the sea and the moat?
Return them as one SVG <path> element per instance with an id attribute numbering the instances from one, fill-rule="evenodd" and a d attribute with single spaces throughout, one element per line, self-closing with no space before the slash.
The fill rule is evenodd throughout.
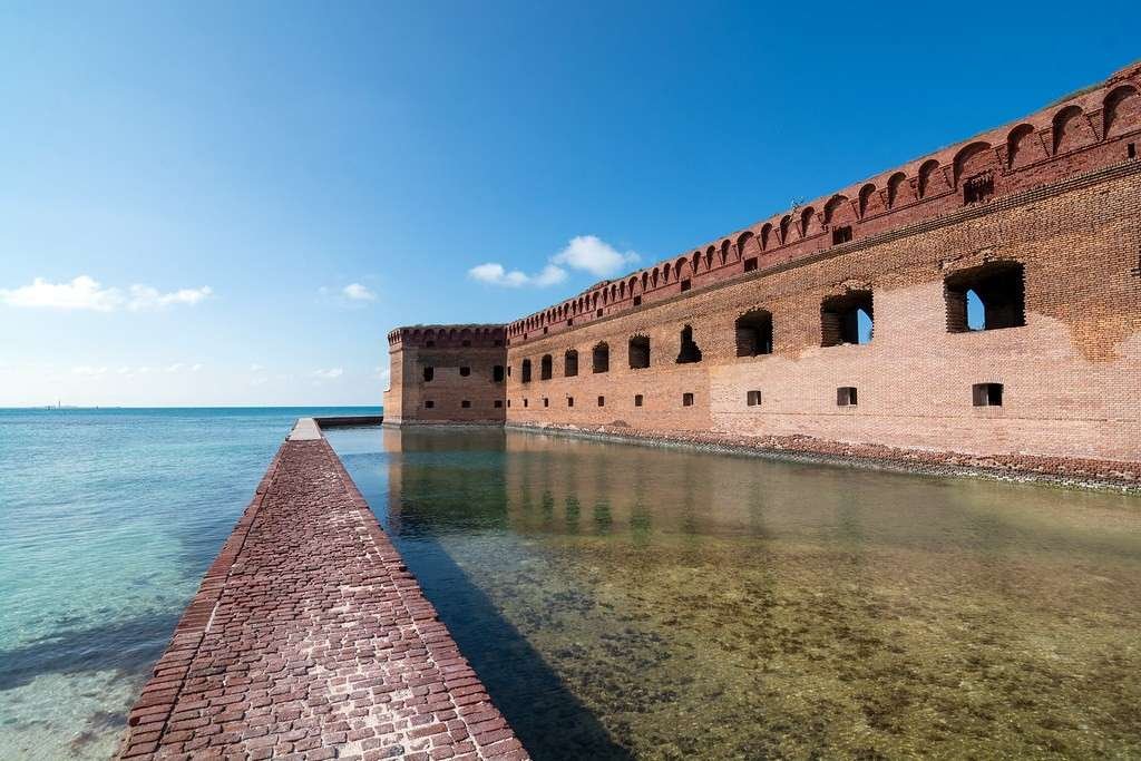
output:
<path id="1" fill-rule="evenodd" d="M 286 442 L 130 712 L 122 759 L 525 759 L 324 439 Z"/>

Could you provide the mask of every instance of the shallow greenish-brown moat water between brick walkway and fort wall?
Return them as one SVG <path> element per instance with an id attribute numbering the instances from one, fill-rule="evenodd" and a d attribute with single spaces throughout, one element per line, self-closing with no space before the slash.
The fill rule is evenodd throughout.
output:
<path id="1" fill-rule="evenodd" d="M 537 759 L 1141 755 L 1141 500 L 330 434 Z"/>

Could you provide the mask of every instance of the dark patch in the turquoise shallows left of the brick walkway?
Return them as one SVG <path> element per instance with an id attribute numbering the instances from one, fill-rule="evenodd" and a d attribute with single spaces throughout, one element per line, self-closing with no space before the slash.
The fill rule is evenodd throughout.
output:
<path id="1" fill-rule="evenodd" d="M 118 671 L 145 674 L 178 623 L 178 614 L 124 618 L 86 629 L 64 629 L 21 647 L 0 650 L 0 690 L 24 687 L 49 673 Z"/>

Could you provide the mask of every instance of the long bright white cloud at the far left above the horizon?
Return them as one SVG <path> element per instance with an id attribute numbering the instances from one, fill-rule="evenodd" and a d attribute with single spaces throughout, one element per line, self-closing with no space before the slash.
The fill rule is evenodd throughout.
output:
<path id="1" fill-rule="evenodd" d="M 131 285 L 128 292 L 123 293 L 118 288 L 104 288 L 89 275 L 80 275 L 65 283 L 49 283 L 42 277 L 37 277 L 31 285 L 0 289 L 0 302 L 9 307 L 42 309 L 114 311 L 127 308 L 131 311 L 143 311 L 173 305 L 193 306 L 208 299 L 212 293 L 209 285 L 170 293 L 162 293 L 149 285 Z"/>

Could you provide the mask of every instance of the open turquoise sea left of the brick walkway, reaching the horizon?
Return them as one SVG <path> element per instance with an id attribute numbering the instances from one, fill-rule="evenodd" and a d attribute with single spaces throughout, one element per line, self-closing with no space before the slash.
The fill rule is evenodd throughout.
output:
<path id="1" fill-rule="evenodd" d="M 0 759 L 106 759 L 299 416 L 0 410 Z"/>

